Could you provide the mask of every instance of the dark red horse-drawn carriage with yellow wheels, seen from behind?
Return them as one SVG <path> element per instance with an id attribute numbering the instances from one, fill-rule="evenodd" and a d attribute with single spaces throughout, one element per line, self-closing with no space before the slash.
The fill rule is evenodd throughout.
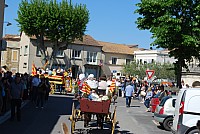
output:
<path id="1" fill-rule="evenodd" d="M 75 106 L 75 102 L 78 102 L 78 107 Z M 76 100 L 72 105 L 72 115 L 70 116 L 71 121 L 71 133 L 75 132 L 75 124 L 77 121 L 84 121 L 84 127 L 87 127 L 88 123 L 91 122 L 91 116 L 96 115 L 98 127 L 103 129 L 103 123 L 111 125 L 111 134 L 114 134 L 116 125 L 116 106 L 114 107 L 113 113 L 111 110 L 111 100 L 92 101 L 87 98 L 81 98 Z"/>

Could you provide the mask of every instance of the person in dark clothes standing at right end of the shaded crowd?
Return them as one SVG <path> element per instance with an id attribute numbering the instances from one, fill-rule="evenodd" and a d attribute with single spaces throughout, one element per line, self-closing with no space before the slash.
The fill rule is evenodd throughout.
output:
<path id="1" fill-rule="evenodd" d="M 41 104 L 41 108 L 44 108 L 44 99 L 45 99 L 45 94 L 47 90 L 47 84 L 45 82 L 44 75 L 41 75 L 40 77 L 41 77 L 40 78 L 41 82 L 38 85 L 36 108 L 39 107 L 39 104 Z"/>

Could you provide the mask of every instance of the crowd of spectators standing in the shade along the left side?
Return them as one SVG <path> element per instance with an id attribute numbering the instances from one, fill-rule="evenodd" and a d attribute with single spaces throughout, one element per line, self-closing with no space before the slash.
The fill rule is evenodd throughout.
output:
<path id="1" fill-rule="evenodd" d="M 44 101 L 48 100 L 50 83 L 48 78 L 39 74 L 30 76 L 27 73 L 7 71 L 0 73 L 0 116 L 11 110 L 10 120 L 21 120 L 21 105 L 24 100 L 31 100 L 35 107 L 44 107 Z M 15 111 L 16 110 L 16 111 Z"/>

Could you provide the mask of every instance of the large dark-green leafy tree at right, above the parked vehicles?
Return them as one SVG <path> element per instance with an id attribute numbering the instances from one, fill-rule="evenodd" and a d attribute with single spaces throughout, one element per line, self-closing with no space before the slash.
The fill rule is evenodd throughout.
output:
<path id="1" fill-rule="evenodd" d="M 177 85 L 181 87 L 182 67 L 192 58 L 200 59 L 200 3 L 198 0 L 141 0 L 135 13 L 141 30 L 150 30 L 152 46 L 168 49 L 177 59 Z"/>

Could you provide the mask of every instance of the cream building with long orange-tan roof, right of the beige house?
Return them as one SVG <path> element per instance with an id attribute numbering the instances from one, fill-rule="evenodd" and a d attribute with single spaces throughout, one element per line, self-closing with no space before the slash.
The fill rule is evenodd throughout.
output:
<path id="1" fill-rule="evenodd" d="M 123 66 L 130 64 L 134 59 L 134 51 L 138 50 L 137 45 L 124 45 L 98 41 L 102 48 L 101 74 L 123 76 Z"/>

